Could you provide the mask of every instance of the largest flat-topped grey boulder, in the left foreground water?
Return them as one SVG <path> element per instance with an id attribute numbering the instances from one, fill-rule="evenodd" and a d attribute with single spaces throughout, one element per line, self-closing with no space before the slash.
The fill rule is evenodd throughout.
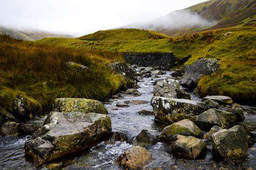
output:
<path id="1" fill-rule="evenodd" d="M 89 148 L 111 135 L 111 120 L 103 114 L 51 112 L 44 124 L 44 134 L 25 143 L 25 156 L 37 165 Z"/>

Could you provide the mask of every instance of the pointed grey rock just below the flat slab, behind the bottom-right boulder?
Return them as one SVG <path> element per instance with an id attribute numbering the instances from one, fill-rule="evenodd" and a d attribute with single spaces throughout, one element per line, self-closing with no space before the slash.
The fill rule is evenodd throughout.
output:
<path id="1" fill-rule="evenodd" d="M 229 126 L 226 118 L 222 115 L 222 112 L 217 109 L 209 109 L 198 115 L 196 117 L 196 125 L 206 131 L 214 125 L 222 128 L 227 128 Z"/>

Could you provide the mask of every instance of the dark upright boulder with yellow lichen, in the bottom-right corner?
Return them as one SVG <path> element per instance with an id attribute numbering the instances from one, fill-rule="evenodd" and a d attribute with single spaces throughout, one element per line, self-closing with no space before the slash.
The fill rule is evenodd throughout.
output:
<path id="1" fill-rule="evenodd" d="M 222 129 L 212 135 L 213 151 L 217 157 L 239 160 L 247 156 L 248 137 L 242 126 Z"/>

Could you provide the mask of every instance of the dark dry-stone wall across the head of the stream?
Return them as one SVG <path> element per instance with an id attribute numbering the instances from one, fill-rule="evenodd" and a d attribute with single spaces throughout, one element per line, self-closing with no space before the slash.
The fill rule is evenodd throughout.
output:
<path id="1" fill-rule="evenodd" d="M 123 53 L 123 57 L 127 63 L 136 64 L 139 67 L 159 66 L 163 69 L 170 69 L 179 64 L 177 57 L 173 53 L 142 53 L 127 52 Z"/>

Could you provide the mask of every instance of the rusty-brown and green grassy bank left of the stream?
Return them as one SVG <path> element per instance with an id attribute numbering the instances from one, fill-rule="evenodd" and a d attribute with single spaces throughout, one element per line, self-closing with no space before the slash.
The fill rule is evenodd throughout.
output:
<path id="1" fill-rule="evenodd" d="M 51 110 L 55 98 L 103 100 L 125 85 L 106 66 L 122 60 L 118 53 L 34 45 L 0 35 L 0 106 L 13 112 L 14 98 L 22 95 L 28 111 L 38 115 Z M 69 61 L 89 70 L 69 68 Z"/>

